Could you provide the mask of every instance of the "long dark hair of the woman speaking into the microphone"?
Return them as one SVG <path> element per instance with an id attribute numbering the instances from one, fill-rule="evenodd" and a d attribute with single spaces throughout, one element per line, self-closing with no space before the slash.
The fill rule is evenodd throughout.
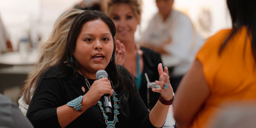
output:
<path id="1" fill-rule="evenodd" d="M 131 74 L 125 68 L 123 68 L 122 66 L 116 65 L 115 63 L 114 36 L 115 36 L 116 28 L 112 20 L 108 16 L 106 16 L 104 13 L 100 11 L 85 11 L 75 18 L 68 33 L 67 43 L 65 46 L 65 50 L 63 52 L 64 54 L 54 67 L 62 68 L 63 72 L 61 73 L 61 75 L 67 76 L 69 72 L 68 69 L 65 69 L 63 68 L 63 66 L 61 66 L 63 65 L 63 61 L 67 61 L 67 65 L 69 65 L 74 70 L 72 79 L 73 80 L 77 79 L 77 70 L 79 68 L 79 63 L 77 62 L 77 60 L 73 55 L 75 50 L 75 45 L 76 45 L 76 39 L 85 23 L 92 20 L 97 20 L 97 19 L 102 20 L 106 25 L 108 25 L 110 32 L 112 34 L 113 43 L 114 43 L 112 61 L 105 68 L 105 71 L 108 73 L 113 83 L 115 83 L 115 86 L 113 89 L 120 90 L 120 94 L 118 95 L 120 96 L 119 98 L 122 99 L 119 102 L 119 105 L 122 111 L 122 106 L 125 106 L 125 104 L 127 104 L 128 99 L 130 97 L 137 96 L 137 95 L 134 95 L 134 94 L 137 94 L 136 82 L 134 81 L 134 78 L 131 76 Z M 71 62 L 71 57 L 73 59 L 73 62 Z"/>

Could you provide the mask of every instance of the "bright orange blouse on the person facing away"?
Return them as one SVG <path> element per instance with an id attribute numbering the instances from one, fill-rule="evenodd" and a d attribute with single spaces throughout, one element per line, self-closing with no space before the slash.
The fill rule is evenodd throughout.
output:
<path id="1" fill-rule="evenodd" d="M 195 116 L 192 128 L 207 127 L 210 117 L 222 109 L 223 103 L 256 100 L 256 67 L 247 28 L 243 27 L 231 38 L 221 56 L 218 55 L 230 31 L 213 35 L 196 56 L 202 63 L 210 95 Z"/>

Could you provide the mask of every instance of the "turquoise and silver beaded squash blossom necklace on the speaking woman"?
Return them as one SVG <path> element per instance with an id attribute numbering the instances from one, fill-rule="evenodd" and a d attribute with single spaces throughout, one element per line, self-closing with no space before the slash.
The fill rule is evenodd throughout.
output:
<path id="1" fill-rule="evenodd" d="M 84 76 L 84 80 L 85 80 L 85 83 L 86 83 L 86 86 L 88 87 L 88 89 L 90 89 L 91 85 L 87 79 L 87 77 L 85 76 L 85 74 L 79 69 L 79 71 L 82 73 L 82 75 Z M 112 85 L 112 88 L 114 88 L 113 86 L 113 83 L 112 81 L 110 80 L 109 76 L 108 76 L 108 79 Z M 118 99 L 116 98 L 116 92 L 114 91 L 114 93 L 112 94 L 112 97 L 113 97 L 113 101 L 114 101 L 114 120 L 113 121 L 108 121 L 108 115 L 105 114 L 105 111 L 102 107 L 102 103 L 101 101 L 98 102 L 98 105 L 99 105 L 99 108 L 103 114 L 103 118 L 105 120 L 105 124 L 107 125 L 106 128 L 115 128 L 115 124 L 118 122 L 118 118 L 117 118 L 117 115 L 120 114 L 119 111 L 118 111 L 118 108 L 119 108 L 119 105 L 117 104 L 118 102 Z"/>

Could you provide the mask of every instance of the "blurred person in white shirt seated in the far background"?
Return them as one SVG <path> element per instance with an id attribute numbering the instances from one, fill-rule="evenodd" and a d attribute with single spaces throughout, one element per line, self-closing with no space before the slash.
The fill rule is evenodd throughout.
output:
<path id="1" fill-rule="evenodd" d="M 156 0 L 159 10 L 142 33 L 141 45 L 161 54 L 163 65 L 170 70 L 174 92 L 204 42 L 187 15 L 172 8 L 174 0 Z M 178 65 L 170 62 L 172 58 Z M 173 67 L 174 66 L 174 67 Z M 171 68 L 172 67 L 172 68 Z"/>

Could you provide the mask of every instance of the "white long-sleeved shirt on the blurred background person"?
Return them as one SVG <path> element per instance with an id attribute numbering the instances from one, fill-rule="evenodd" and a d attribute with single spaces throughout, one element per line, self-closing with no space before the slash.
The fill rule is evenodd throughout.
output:
<path id="1" fill-rule="evenodd" d="M 163 44 L 169 39 L 171 39 L 169 44 Z M 162 22 L 161 15 L 157 13 L 142 34 L 141 41 L 149 45 L 162 46 L 169 52 L 170 55 L 161 55 L 165 66 L 172 66 L 168 59 L 174 57 L 179 60 L 179 64 L 174 67 L 171 76 L 184 75 L 204 43 L 189 17 L 176 10 L 172 10 L 165 22 Z"/>

